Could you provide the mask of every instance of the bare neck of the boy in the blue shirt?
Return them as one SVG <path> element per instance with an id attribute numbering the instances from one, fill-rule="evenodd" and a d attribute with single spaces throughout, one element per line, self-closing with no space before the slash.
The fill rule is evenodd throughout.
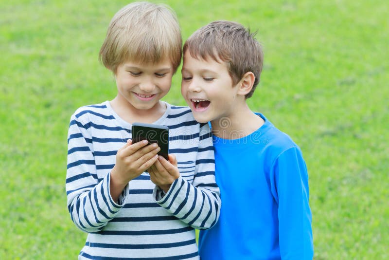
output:
<path id="1" fill-rule="evenodd" d="M 213 135 L 223 139 L 239 139 L 258 130 L 265 121 L 254 114 L 246 102 L 211 122 Z"/>

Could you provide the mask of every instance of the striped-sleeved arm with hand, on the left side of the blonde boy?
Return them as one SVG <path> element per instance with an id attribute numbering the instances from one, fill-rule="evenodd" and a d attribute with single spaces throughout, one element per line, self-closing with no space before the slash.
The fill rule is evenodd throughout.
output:
<path id="1" fill-rule="evenodd" d="M 66 191 L 71 219 L 81 230 L 100 231 L 123 207 L 128 182 L 156 160 L 158 147 L 127 142 L 116 154 L 116 164 L 98 180 L 89 124 L 72 116 L 68 134 Z"/>

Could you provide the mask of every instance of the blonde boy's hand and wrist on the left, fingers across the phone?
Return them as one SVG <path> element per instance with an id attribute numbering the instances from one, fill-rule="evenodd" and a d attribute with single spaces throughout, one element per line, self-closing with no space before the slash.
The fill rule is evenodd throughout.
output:
<path id="1" fill-rule="evenodd" d="M 111 196 L 115 201 L 129 181 L 141 175 L 157 161 L 159 150 L 157 144 L 148 145 L 147 140 L 132 144 L 130 139 L 118 150 L 110 178 Z"/>

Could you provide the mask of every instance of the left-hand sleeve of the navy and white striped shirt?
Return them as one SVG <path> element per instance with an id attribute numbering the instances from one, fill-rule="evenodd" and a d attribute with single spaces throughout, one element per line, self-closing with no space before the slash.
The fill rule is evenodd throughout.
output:
<path id="1" fill-rule="evenodd" d="M 100 231 L 122 205 L 115 203 L 109 193 L 109 170 L 98 179 L 94 160 L 90 123 L 82 124 L 71 117 L 68 133 L 68 167 L 66 194 L 71 220 L 81 230 Z M 125 194 L 125 192 L 123 193 Z"/>

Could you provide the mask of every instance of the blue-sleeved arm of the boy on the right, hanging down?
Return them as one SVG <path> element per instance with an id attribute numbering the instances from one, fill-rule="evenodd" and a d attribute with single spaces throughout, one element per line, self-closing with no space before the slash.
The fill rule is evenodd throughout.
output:
<path id="1" fill-rule="evenodd" d="M 285 150 L 273 164 L 278 199 L 279 239 L 282 259 L 313 258 L 312 213 L 309 207 L 308 172 L 297 147 Z"/>

